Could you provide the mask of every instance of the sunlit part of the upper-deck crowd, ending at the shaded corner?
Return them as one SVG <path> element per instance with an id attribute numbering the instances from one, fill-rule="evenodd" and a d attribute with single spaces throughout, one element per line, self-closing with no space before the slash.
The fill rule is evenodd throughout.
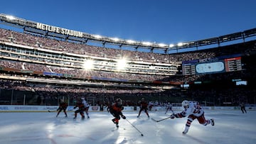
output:
<path id="1" fill-rule="evenodd" d="M 150 52 L 138 52 L 130 50 L 119 50 L 112 48 L 102 48 L 97 46 L 86 45 L 83 43 L 75 43 L 67 40 L 58 40 L 54 38 L 46 38 L 41 35 L 31 35 L 27 33 L 18 33 L 0 28 L 0 40 L 21 45 L 28 45 L 35 48 L 45 48 L 49 50 L 57 50 L 60 52 L 70 52 L 79 55 L 90 55 L 97 57 L 128 57 L 129 60 L 138 60 L 144 62 L 175 62 L 170 60 L 170 55 L 161 55 Z"/>

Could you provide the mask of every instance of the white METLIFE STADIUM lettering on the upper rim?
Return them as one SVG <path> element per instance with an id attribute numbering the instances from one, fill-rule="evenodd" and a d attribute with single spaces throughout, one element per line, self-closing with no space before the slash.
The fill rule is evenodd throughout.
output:
<path id="1" fill-rule="evenodd" d="M 59 28 L 56 26 L 49 26 L 43 23 L 36 23 L 36 28 L 44 30 L 44 31 L 49 31 L 49 32 L 53 32 L 53 33 L 60 33 L 63 35 L 70 35 L 70 36 L 75 36 L 75 37 L 80 37 L 82 38 L 82 32 L 79 31 L 72 31 L 72 30 L 68 30 L 65 28 Z"/>

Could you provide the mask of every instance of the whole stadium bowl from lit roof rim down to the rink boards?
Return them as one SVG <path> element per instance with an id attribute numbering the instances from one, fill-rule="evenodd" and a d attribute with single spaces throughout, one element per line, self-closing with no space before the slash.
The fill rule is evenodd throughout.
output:
<path id="1" fill-rule="evenodd" d="M 237 89 L 238 82 L 242 89 L 250 90 L 255 79 L 250 75 L 255 70 L 250 59 L 255 55 L 256 28 L 182 45 L 161 45 L 68 30 L 3 13 L 0 20 L 23 30 L 0 28 L 1 104 L 53 105 L 58 99 L 73 104 L 81 96 L 92 105 L 105 104 L 117 96 L 130 105 L 142 96 L 161 102 L 177 102 L 186 96 L 214 105 L 238 101 L 255 104 L 255 95 L 206 100 L 203 94 L 191 93 L 209 87 Z M 242 42 L 235 43 L 238 40 Z M 89 45 L 89 41 L 102 43 L 102 47 Z M 234 43 L 222 46 L 227 42 Z M 118 49 L 106 48 L 106 44 L 118 45 Z M 206 45 L 212 48 L 198 50 Z M 122 50 L 123 46 L 135 50 Z M 178 52 L 186 48 L 196 50 Z M 176 53 L 169 53 L 171 50 Z M 119 69 L 124 59 L 121 66 L 125 67 Z M 87 69 L 89 62 L 92 67 Z"/>

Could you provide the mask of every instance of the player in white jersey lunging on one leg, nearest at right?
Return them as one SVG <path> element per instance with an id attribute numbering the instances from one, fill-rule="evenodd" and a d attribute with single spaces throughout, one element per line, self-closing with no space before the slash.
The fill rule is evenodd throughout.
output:
<path id="1" fill-rule="evenodd" d="M 187 101 L 184 100 L 182 101 L 182 106 L 184 108 L 181 113 L 173 113 L 171 114 L 170 118 L 183 118 L 188 116 L 188 120 L 186 122 L 186 127 L 185 130 L 182 132 L 183 134 L 188 133 L 188 129 L 191 126 L 191 123 L 193 122 L 194 119 L 197 119 L 198 122 L 204 126 L 211 124 L 214 126 L 214 121 L 213 119 L 206 120 L 204 116 L 204 111 L 201 108 L 201 106 L 198 105 L 198 102 L 193 102 L 193 101 Z"/>

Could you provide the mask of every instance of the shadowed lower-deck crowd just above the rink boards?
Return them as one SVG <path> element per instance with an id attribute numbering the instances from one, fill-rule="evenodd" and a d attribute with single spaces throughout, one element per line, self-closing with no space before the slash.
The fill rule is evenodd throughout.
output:
<path id="1" fill-rule="evenodd" d="M 149 101 L 158 101 L 159 106 L 171 103 L 180 103 L 182 99 L 199 101 L 206 106 L 236 106 L 240 101 L 246 104 L 255 104 L 256 89 L 245 86 L 236 87 L 197 87 L 181 90 L 154 90 L 154 89 L 102 89 L 88 87 L 65 87 L 47 84 L 26 84 L 21 81 L 1 79 L 0 101 L 9 101 L 9 104 L 23 104 L 26 94 L 26 104 L 36 104 L 36 97 L 40 96 L 46 105 L 58 104 L 58 99 L 66 99 L 71 105 L 76 99 L 85 97 L 91 105 L 100 106 L 122 98 L 125 106 L 136 106 L 142 98 Z M 12 98 L 11 98 L 12 97 Z M 107 100 L 107 101 L 106 101 Z M 12 101 L 12 102 L 11 102 Z"/>

